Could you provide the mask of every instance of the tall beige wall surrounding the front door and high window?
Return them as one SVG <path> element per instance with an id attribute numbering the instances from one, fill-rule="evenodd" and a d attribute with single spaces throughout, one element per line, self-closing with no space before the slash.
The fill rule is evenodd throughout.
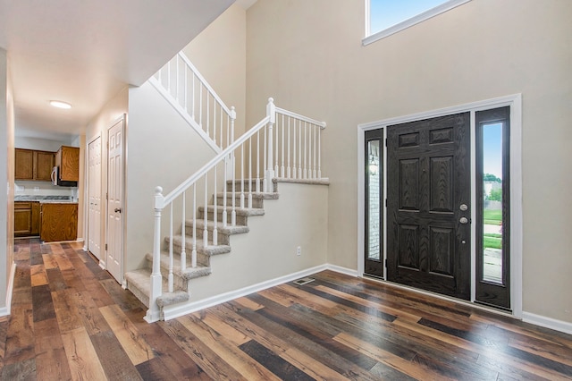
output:
<path id="1" fill-rule="evenodd" d="M 267 97 L 328 123 L 328 262 L 357 268 L 357 124 L 523 96 L 523 302 L 572 322 L 568 0 L 473 0 L 362 47 L 364 2 L 258 0 L 247 13 L 247 123 Z"/>

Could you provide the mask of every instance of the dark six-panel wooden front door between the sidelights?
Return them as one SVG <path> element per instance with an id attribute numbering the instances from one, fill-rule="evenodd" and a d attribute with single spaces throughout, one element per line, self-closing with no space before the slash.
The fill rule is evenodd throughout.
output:
<path id="1" fill-rule="evenodd" d="M 469 300 L 470 117 L 387 130 L 387 278 Z"/>

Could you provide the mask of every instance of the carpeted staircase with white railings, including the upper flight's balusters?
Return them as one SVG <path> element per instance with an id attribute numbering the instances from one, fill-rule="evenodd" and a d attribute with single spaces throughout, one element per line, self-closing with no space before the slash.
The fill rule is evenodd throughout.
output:
<path id="1" fill-rule="evenodd" d="M 325 123 L 276 107 L 269 98 L 265 118 L 235 140 L 234 109 L 224 106 L 203 84 L 184 55 L 176 59 L 174 86 L 172 63 L 165 65 L 166 75 L 164 68 L 150 81 L 218 154 L 170 193 L 164 195 L 156 187 L 153 252 L 147 253 L 144 267 L 125 274 L 127 288 L 148 308 L 147 322 L 164 319 L 168 307 L 185 310 L 191 303 L 191 280 L 216 271 L 212 258 L 231 253 L 231 237 L 248 234 L 250 218 L 264 218 L 265 200 L 278 199 L 277 179 L 327 182 L 321 174 Z M 181 76 L 179 60 L 186 67 Z M 196 78 L 201 83 L 198 92 Z M 181 90 L 189 83 L 190 89 Z M 208 90 L 205 96 L 203 89 Z M 212 108 L 214 118 L 208 116 Z M 226 117 L 219 116 L 216 122 L 216 114 Z"/>

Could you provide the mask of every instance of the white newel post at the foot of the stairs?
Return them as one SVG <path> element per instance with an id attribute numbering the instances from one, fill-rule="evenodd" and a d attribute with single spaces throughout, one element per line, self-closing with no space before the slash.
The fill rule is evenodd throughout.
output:
<path id="1" fill-rule="evenodd" d="M 154 201 L 155 230 L 153 234 L 153 270 L 151 273 L 151 292 L 149 293 L 149 309 L 145 320 L 148 323 L 158 321 L 160 317 L 157 298 L 161 296 L 161 210 L 163 210 L 163 188 L 156 187 Z"/>

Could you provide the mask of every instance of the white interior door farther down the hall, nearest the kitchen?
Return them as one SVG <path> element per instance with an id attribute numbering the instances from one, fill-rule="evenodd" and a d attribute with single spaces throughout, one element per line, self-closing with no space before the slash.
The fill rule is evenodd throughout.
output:
<path id="1" fill-rule="evenodd" d="M 101 137 L 88 148 L 88 250 L 101 260 Z"/>

